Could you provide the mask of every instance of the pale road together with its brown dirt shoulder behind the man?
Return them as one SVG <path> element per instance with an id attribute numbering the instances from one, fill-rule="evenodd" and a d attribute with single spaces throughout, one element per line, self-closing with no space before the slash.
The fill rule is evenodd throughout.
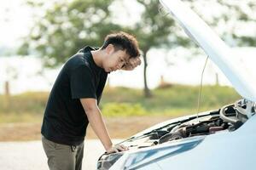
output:
<path id="1" fill-rule="evenodd" d="M 163 122 L 168 116 L 123 116 L 107 117 L 106 125 L 113 139 L 113 144 L 119 143 L 141 130 L 158 122 Z M 47 159 L 40 141 L 41 123 L 0 123 L 0 167 L 9 170 L 46 170 Z M 100 140 L 96 139 L 90 126 L 84 141 L 83 169 L 96 169 L 96 161 L 104 149 Z"/>

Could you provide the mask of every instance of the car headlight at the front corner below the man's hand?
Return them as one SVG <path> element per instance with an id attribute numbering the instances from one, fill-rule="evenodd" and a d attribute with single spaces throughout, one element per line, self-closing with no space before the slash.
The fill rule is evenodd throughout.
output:
<path id="1" fill-rule="evenodd" d="M 118 159 L 123 156 L 122 153 L 113 153 L 110 155 L 102 155 L 98 162 L 97 162 L 97 169 L 98 170 L 108 170 L 110 167 L 113 166 L 113 163 L 118 161 Z"/>

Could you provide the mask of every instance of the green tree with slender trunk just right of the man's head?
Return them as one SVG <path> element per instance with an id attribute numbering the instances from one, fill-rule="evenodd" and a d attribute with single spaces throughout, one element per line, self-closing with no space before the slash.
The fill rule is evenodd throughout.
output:
<path id="1" fill-rule="evenodd" d="M 143 78 L 144 94 L 150 97 L 152 94 L 147 83 L 148 51 L 152 48 L 174 48 L 178 45 L 189 45 L 189 39 L 179 34 L 180 31 L 172 17 L 167 16 L 160 2 L 156 0 L 137 0 L 137 3 L 143 6 L 143 14 L 135 26 L 130 29 L 136 35 L 140 48 L 143 52 Z M 159 57 L 159 56 L 155 56 Z"/>

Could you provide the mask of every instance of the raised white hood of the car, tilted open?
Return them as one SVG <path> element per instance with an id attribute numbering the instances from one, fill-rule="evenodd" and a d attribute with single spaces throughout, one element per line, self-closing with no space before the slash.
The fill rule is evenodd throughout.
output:
<path id="1" fill-rule="evenodd" d="M 160 0 L 160 3 L 169 10 L 187 35 L 205 51 L 212 62 L 218 65 L 236 92 L 243 98 L 255 102 L 255 77 L 251 77 L 250 72 L 244 74 L 242 70 L 246 68 L 236 60 L 237 54 L 185 3 L 180 0 Z"/>

